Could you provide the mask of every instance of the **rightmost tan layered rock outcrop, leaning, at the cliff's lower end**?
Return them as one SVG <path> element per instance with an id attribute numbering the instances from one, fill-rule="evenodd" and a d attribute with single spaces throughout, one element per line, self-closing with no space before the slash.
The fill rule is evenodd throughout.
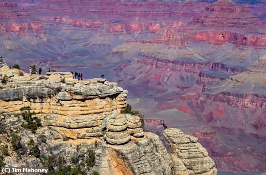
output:
<path id="1" fill-rule="evenodd" d="M 197 138 L 185 135 L 177 128 L 168 128 L 163 136 L 172 149 L 175 175 L 216 175 L 214 161 L 208 156 L 207 150 L 197 143 Z"/>

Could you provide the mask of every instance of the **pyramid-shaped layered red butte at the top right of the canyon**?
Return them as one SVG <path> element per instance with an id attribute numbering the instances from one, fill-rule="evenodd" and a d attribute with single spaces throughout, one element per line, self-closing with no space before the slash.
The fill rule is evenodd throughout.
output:
<path id="1" fill-rule="evenodd" d="M 229 0 L 218 0 L 207 5 L 203 13 L 193 17 L 192 24 L 256 32 L 265 23 L 243 5 Z"/>

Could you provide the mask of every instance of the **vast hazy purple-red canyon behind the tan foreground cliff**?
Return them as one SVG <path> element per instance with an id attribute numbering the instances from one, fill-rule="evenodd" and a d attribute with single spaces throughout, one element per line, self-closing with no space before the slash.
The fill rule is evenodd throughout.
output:
<path id="1" fill-rule="evenodd" d="M 129 90 L 144 131 L 158 134 L 168 152 L 162 125 L 196 136 L 218 170 L 265 172 L 265 7 L 265 0 L 5 0 L 0 54 L 25 72 L 36 64 L 104 74 Z M 84 131 L 57 130 L 77 140 L 91 137 Z M 98 128 L 93 134 L 103 137 Z"/>

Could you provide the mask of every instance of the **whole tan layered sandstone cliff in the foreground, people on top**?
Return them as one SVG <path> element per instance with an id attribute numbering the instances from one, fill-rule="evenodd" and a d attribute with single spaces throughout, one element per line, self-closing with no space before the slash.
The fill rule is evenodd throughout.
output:
<path id="1" fill-rule="evenodd" d="M 0 74 L 6 80 L 0 83 L 0 144 L 7 144 L 11 152 L 4 156 L 7 165 L 43 165 L 39 158 L 27 154 L 32 139 L 38 143 L 41 158 L 67 154 L 69 164 L 76 155 L 79 155 L 77 161 L 82 162 L 86 148 L 93 148 L 95 165 L 87 174 L 91 171 L 100 175 L 217 173 L 213 160 L 195 137 L 178 129 L 166 129 L 164 136 L 173 152 L 170 155 L 158 135 L 143 131 L 138 116 L 120 114 L 127 91 L 117 83 L 105 79 L 77 81 L 71 73 L 62 72 L 22 76 L 19 70 L 6 65 L 1 65 Z M 21 127 L 25 121 L 19 117 L 20 109 L 26 106 L 41 119 L 42 127 L 35 133 Z M 8 142 L 11 133 L 21 137 L 20 159 Z M 45 143 L 40 141 L 43 137 Z"/>

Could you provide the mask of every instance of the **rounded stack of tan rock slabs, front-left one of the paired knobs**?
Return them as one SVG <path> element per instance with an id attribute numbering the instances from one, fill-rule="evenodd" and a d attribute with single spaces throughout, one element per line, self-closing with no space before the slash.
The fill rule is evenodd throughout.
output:
<path id="1" fill-rule="evenodd" d="M 122 115 L 110 119 L 106 128 L 107 132 L 104 137 L 107 143 L 119 145 L 131 140 L 127 131 L 126 118 Z"/>

